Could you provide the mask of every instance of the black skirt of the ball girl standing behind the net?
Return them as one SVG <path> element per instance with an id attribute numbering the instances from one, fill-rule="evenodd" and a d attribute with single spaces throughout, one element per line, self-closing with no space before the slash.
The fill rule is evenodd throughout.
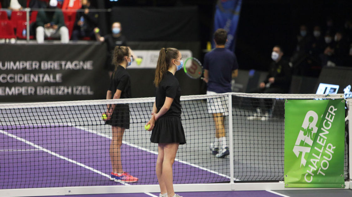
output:
<path id="1" fill-rule="evenodd" d="M 106 125 L 130 128 L 130 107 L 128 104 L 116 104 L 111 119 L 105 121 Z"/>

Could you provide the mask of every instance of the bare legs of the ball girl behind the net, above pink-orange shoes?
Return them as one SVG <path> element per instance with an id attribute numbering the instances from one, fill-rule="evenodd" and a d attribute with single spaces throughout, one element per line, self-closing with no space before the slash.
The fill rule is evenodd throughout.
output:
<path id="1" fill-rule="evenodd" d="M 113 172 L 122 173 L 121 145 L 125 128 L 112 127 L 112 140 L 110 145 L 110 160 Z"/>

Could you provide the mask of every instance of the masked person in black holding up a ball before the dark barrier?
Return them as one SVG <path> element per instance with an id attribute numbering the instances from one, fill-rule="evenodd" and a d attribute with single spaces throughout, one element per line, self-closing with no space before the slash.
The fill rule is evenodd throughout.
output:
<path id="1" fill-rule="evenodd" d="M 126 37 L 121 33 L 122 28 L 121 28 L 120 22 L 114 22 L 111 25 L 111 31 L 112 31 L 112 34 L 107 34 L 104 37 L 102 37 L 99 34 L 99 28 L 94 28 L 96 40 L 99 40 L 100 42 L 106 42 L 107 44 L 108 52 L 107 52 L 105 68 L 108 70 L 110 77 L 114 70 L 114 66 L 111 63 L 111 57 L 112 57 L 111 54 L 115 46 L 127 46 Z"/>

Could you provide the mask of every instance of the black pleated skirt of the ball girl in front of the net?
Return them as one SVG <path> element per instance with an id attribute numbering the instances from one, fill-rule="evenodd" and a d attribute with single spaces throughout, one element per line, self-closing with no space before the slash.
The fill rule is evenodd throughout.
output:
<path id="1" fill-rule="evenodd" d="M 175 116 L 160 117 L 155 122 L 150 141 L 153 143 L 178 142 L 186 144 L 181 118 Z"/>

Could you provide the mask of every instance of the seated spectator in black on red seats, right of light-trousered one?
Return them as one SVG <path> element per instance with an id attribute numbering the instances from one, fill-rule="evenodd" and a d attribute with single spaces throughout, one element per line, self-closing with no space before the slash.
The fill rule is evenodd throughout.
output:
<path id="1" fill-rule="evenodd" d="M 84 9 L 84 12 L 77 12 L 76 14 L 72 40 L 78 40 L 83 37 L 95 38 L 93 30 L 94 27 L 98 26 L 99 14 L 90 11 L 90 9 L 94 9 L 94 7 L 90 6 L 90 0 L 82 0 L 82 9 Z"/>

